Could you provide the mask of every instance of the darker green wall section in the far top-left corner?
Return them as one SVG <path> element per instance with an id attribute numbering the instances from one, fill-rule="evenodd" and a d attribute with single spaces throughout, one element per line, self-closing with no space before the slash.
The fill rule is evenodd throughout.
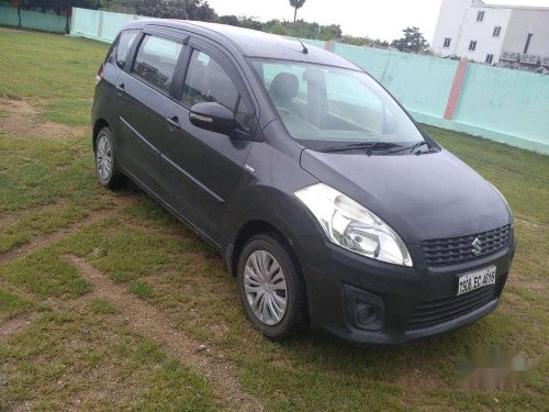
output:
<path id="1" fill-rule="evenodd" d="M 18 9 L 0 5 L 0 24 L 19 26 Z M 66 33 L 67 18 L 52 13 L 21 10 L 21 26 L 43 32 Z"/>

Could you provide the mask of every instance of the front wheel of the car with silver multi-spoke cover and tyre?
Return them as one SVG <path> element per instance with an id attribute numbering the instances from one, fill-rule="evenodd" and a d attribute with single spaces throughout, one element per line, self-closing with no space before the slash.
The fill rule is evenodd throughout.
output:
<path id="1" fill-rule="evenodd" d="M 305 283 L 290 245 L 280 236 L 251 237 L 240 253 L 236 279 L 246 316 L 265 336 L 288 338 L 303 326 Z"/>

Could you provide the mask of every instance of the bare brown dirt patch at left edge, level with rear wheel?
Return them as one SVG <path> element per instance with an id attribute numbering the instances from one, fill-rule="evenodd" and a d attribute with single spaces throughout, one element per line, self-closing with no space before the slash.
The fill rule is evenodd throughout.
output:
<path id="1" fill-rule="evenodd" d="M 58 141 L 85 131 L 82 127 L 41 119 L 40 110 L 25 100 L 2 99 L 0 109 L 7 113 L 5 116 L 0 116 L 0 134 Z"/>

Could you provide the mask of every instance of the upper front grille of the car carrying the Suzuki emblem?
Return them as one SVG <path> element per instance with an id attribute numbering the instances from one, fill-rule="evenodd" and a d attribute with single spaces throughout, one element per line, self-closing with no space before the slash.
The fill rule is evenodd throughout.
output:
<path id="1" fill-rule="evenodd" d="M 507 224 L 474 235 L 424 241 L 422 247 L 428 266 L 450 266 L 493 254 L 507 246 L 509 237 L 511 225 Z M 481 252 L 478 255 L 472 252 L 472 243 L 475 238 L 479 238 L 481 245 Z"/>

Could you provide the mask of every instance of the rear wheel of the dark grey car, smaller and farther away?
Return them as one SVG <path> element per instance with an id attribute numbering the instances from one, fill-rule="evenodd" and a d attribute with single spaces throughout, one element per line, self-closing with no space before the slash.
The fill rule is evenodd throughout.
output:
<path id="1" fill-rule="evenodd" d="M 114 152 L 113 135 L 109 127 L 99 131 L 96 138 L 96 174 L 99 182 L 109 189 L 120 189 L 126 183 Z"/>

